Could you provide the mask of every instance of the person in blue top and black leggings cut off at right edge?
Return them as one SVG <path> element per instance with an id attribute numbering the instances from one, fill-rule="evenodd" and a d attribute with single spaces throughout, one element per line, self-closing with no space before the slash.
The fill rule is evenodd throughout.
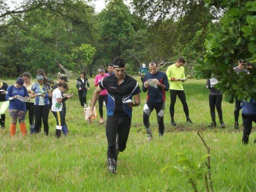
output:
<path id="1" fill-rule="evenodd" d="M 252 122 L 256 123 L 256 100 L 251 99 L 250 102 L 242 101 L 242 120 L 244 126 L 244 134 L 242 137 L 243 144 L 248 144 L 249 135 L 252 131 Z M 254 140 L 256 143 L 256 140 Z"/>

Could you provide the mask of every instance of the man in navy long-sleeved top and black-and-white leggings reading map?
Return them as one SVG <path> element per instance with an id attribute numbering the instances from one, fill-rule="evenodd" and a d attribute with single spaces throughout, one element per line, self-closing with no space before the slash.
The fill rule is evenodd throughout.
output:
<path id="1" fill-rule="evenodd" d="M 165 92 L 169 90 L 169 82 L 166 74 L 158 71 L 156 62 L 150 62 L 149 70 L 150 72 L 144 76 L 142 90 L 143 92 L 148 91 L 147 102 L 143 109 L 143 124 L 148 134 L 148 141 L 151 141 L 153 136 L 150 129 L 149 116 L 154 109 L 156 109 L 159 136 L 164 134 Z M 156 83 L 157 88 L 146 83 L 149 79 Z"/>

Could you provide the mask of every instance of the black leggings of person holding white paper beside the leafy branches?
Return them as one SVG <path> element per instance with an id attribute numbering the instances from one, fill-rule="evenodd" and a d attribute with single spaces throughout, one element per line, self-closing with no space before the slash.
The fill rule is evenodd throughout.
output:
<path id="1" fill-rule="evenodd" d="M 221 102 L 222 102 L 222 95 L 209 95 L 210 114 L 212 117 L 212 122 L 214 124 L 216 124 L 215 106 L 218 112 L 219 120 L 220 122 L 223 122 Z"/>

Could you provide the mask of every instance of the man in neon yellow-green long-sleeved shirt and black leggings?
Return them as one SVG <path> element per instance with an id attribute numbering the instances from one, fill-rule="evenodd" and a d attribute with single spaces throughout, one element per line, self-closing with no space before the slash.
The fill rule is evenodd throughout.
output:
<path id="1" fill-rule="evenodd" d="M 176 102 L 176 97 L 178 95 L 182 105 L 183 110 L 186 114 L 187 122 L 192 123 L 189 118 L 188 104 L 186 102 L 186 95 L 182 86 L 182 83 L 186 81 L 186 76 L 184 72 L 185 60 L 182 57 L 179 57 L 175 64 L 172 64 L 167 68 L 166 75 L 170 84 L 170 96 L 171 96 L 171 104 L 170 104 L 170 114 L 171 114 L 171 124 L 176 125 L 174 121 L 174 105 Z"/>

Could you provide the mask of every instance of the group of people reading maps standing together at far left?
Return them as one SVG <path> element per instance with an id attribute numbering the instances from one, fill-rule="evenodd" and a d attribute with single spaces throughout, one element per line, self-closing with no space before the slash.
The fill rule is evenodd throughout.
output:
<path id="1" fill-rule="evenodd" d="M 56 137 L 60 137 L 61 130 L 64 134 L 67 134 L 65 101 L 71 97 L 71 95 L 64 94 L 68 90 L 67 77 L 63 74 L 58 76 L 58 82 L 54 84 L 50 78 L 47 78 L 45 71 L 39 69 L 36 80 L 36 83 L 32 83 L 30 73 L 24 72 L 11 86 L 4 82 L 0 83 L 0 90 L 2 90 L 0 97 L 2 128 L 5 128 L 5 112 L 9 108 L 11 136 L 16 133 L 17 120 L 22 135 L 26 135 L 25 116 L 27 112 L 30 133 L 40 132 L 43 124 L 44 133 L 48 135 L 48 116 L 51 109 L 56 118 Z"/>

